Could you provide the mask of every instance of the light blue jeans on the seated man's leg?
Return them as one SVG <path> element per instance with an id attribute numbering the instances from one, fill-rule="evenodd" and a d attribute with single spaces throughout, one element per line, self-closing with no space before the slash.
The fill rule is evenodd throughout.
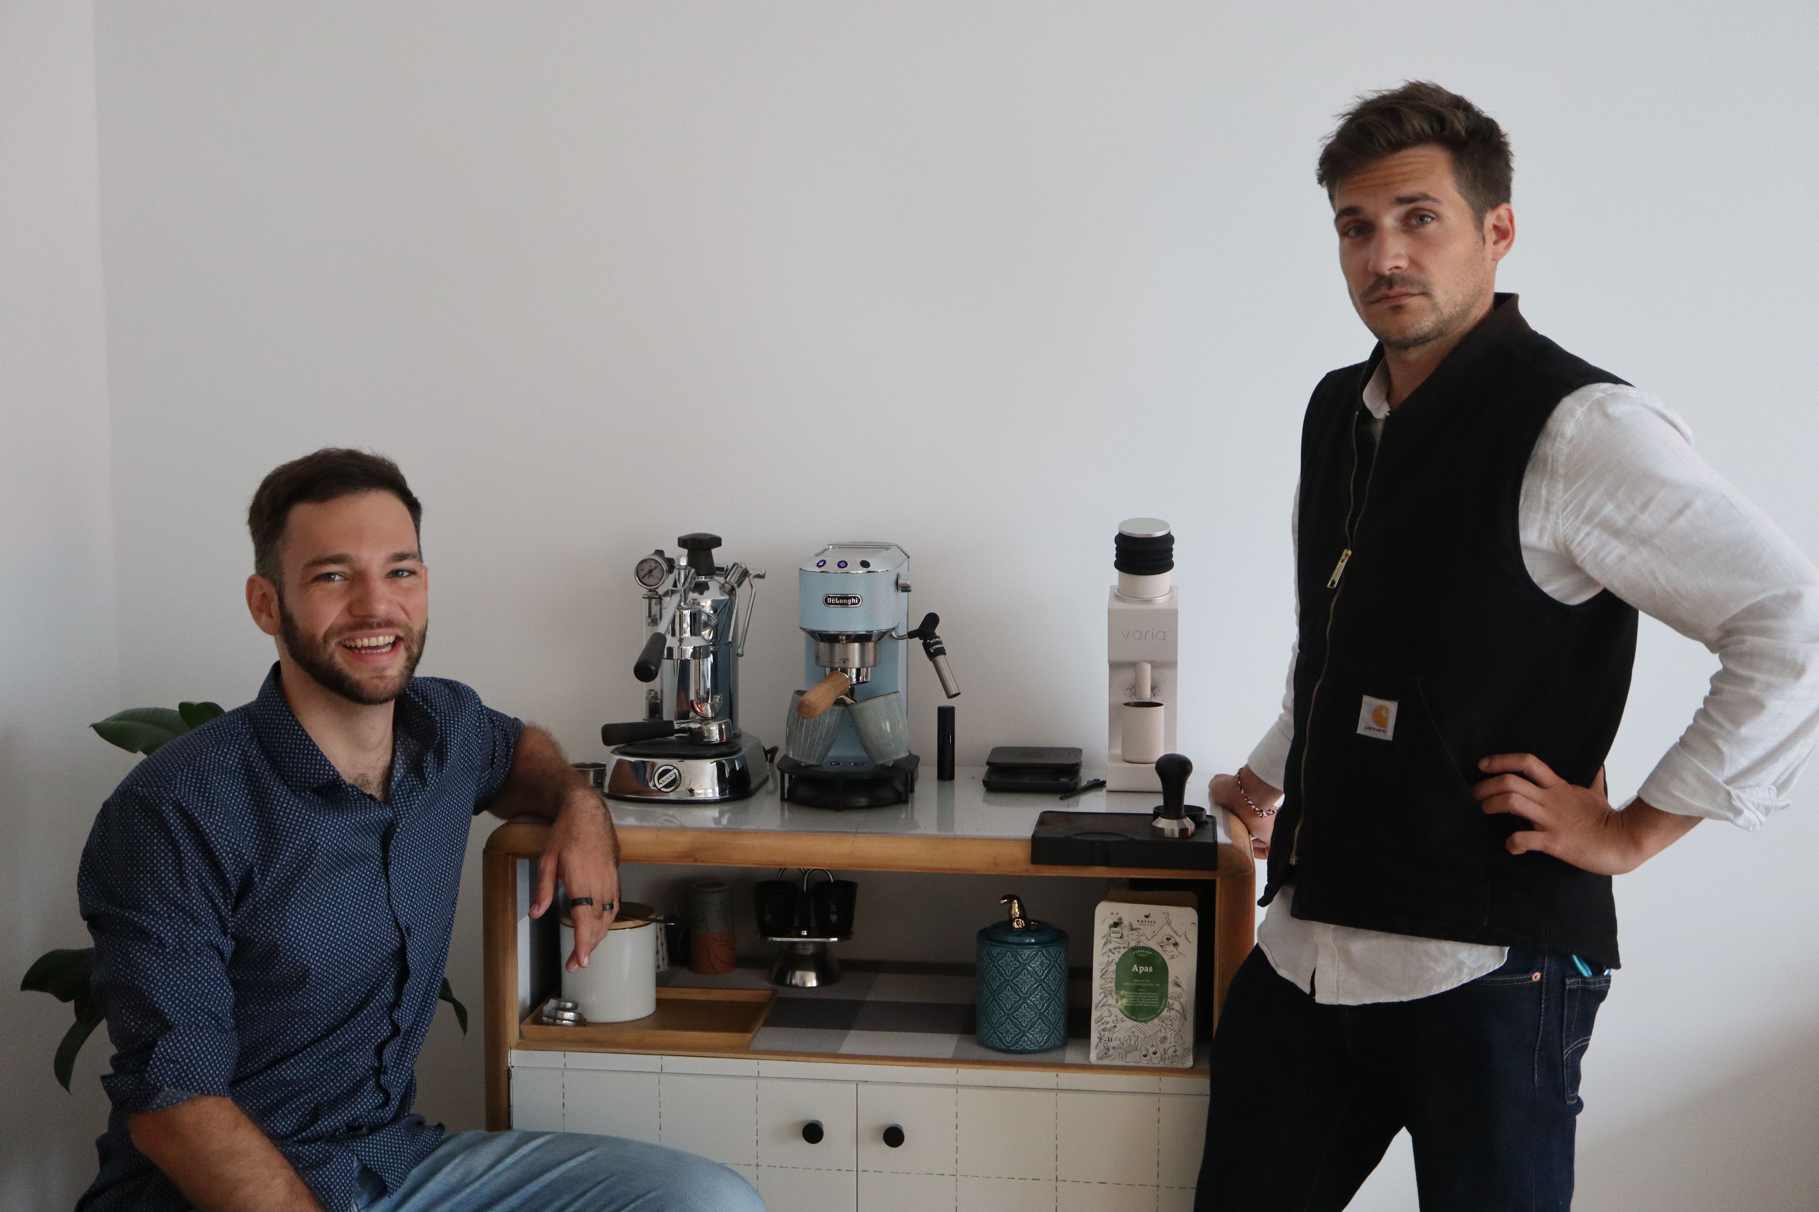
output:
<path id="1" fill-rule="evenodd" d="M 362 1212 L 764 1212 L 717 1161 L 584 1132 L 457 1132 L 391 1196 L 360 1177 Z"/>

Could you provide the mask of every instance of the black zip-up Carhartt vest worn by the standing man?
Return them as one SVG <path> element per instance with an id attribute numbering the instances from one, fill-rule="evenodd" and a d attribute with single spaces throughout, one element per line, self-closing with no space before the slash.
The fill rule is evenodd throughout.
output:
<path id="1" fill-rule="evenodd" d="M 1479 758 L 1532 752 L 1590 785 L 1623 720 L 1635 609 L 1555 601 L 1517 538 L 1548 416 L 1623 380 L 1499 294 L 1373 443 L 1381 358 L 1321 380 L 1302 425 L 1295 743 L 1262 903 L 1293 879 L 1297 918 L 1617 967 L 1610 878 L 1510 854 L 1526 825 L 1472 783 Z"/>

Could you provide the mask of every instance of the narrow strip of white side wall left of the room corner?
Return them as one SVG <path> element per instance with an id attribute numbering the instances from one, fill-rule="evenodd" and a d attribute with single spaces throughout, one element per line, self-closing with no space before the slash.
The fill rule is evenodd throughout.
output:
<path id="1" fill-rule="evenodd" d="M 95 1176 L 106 1041 L 51 1078 L 71 1012 L 16 981 L 85 947 L 76 856 L 131 765 L 116 710 L 107 367 L 87 4 L 0 0 L 0 1207 L 69 1207 Z"/>

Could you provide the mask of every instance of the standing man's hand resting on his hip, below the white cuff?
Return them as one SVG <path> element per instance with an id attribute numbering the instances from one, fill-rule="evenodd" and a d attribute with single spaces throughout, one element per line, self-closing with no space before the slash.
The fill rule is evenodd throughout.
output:
<path id="1" fill-rule="evenodd" d="M 1539 850 L 1599 876 L 1635 870 L 1681 839 L 1697 816 L 1677 816 L 1641 800 L 1621 812 L 1604 798 L 1604 772 L 1592 787 L 1573 787 L 1535 754 L 1492 754 L 1479 769 L 1493 778 L 1472 794 L 1484 812 L 1512 812 L 1533 829 L 1510 834 L 1510 854 Z"/>

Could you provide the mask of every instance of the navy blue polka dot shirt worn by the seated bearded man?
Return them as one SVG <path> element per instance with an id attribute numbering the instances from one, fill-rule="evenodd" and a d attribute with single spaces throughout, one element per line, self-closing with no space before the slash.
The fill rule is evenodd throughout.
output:
<path id="1" fill-rule="evenodd" d="M 127 1116 L 233 1098 L 324 1208 L 397 1190 L 442 1141 L 411 1114 L 473 814 L 522 725 L 458 681 L 397 700 L 387 801 L 342 780 L 278 689 L 164 745 L 102 805 L 76 887 L 116 1048 L 78 1208 L 187 1208 Z"/>

